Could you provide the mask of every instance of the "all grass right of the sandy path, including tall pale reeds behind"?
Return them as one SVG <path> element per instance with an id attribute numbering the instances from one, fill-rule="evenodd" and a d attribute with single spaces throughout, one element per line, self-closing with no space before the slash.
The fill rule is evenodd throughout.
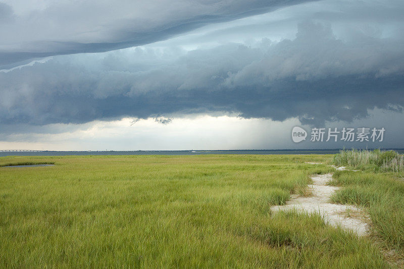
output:
<path id="1" fill-rule="evenodd" d="M 404 267 L 403 155 L 379 149 L 341 150 L 333 163 L 361 171 L 335 172 L 330 184 L 342 188 L 331 201 L 363 207 L 371 219 L 371 234 L 393 253 L 390 261 Z"/>

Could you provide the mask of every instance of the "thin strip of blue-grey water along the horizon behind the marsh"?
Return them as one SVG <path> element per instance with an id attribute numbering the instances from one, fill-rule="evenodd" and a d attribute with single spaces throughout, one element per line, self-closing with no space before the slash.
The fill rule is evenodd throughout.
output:
<path id="1" fill-rule="evenodd" d="M 394 149 L 403 154 L 404 149 Z M 335 154 L 339 149 L 282 149 L 282 150 L 137 150 L 137 151 L 14 151 L 0 152 L 0 156 L 64 156 L 64 155 L 199 155 L 199 154 Z"/>

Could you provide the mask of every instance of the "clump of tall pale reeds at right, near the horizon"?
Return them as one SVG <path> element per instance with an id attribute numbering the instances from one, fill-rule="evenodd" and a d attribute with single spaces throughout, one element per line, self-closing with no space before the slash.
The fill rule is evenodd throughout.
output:
<path id="1" fill-rule="evenodd" d="M 336 166 L 374 168 L 385 172 L 404 172 L 404 156 L 393 150 L 341 150 L 334 156 Z"/>

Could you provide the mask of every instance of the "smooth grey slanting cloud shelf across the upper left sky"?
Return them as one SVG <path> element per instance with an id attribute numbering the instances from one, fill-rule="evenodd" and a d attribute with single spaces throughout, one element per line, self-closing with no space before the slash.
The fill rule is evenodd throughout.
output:
<path id="1" fill-rule="evenodd" d="M 308 0 L 54 2 L 43 10 L 33 7 L 0 28 L 0 69 L 35 58 L 148 44 L 207 24 L 304 2 Z M 11 7 L 0 3 L 0 23 L 12 15 Z"/>

